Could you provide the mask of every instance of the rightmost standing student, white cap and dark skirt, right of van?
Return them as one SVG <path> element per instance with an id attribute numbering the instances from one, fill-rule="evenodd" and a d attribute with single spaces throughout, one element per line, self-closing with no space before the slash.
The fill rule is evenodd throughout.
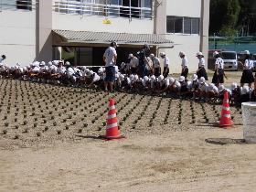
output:
<path id="1" fill-rule="evenodd" d="M 248 83 L 248 86 L 251 88 L 251 83 L 254 81 L 252 68 L 253 68 L 253 60 L 250 59 L 249 50 L 245 50 L 245 59 L 241 65 L 243 66 L 242 75 L 240 79 L 240 87 L 243 87 L 245 83 Z"/>

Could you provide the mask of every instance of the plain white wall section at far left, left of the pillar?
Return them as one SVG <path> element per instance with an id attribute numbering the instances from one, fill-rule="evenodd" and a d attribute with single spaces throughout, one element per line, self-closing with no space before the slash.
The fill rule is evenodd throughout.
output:
<path id="1" fill-rule="evenodd" d="M 5 63 L 27 65 L 36 57 L 36 12 L 2 10 L 0 12 L 0 55 Z"/>

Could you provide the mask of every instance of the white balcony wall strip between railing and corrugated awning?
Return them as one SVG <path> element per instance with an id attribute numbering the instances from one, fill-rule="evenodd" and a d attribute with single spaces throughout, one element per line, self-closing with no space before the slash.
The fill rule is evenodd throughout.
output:
<path id="1" fill-rule="evenodd" d="M 109 17 L 112 24 L 103 24 L 104 16 L 80 16 L 53 12 L 53 29 L 86 30 L 95 32 L 152 34 L 153 20 L 138 18 Z"/>

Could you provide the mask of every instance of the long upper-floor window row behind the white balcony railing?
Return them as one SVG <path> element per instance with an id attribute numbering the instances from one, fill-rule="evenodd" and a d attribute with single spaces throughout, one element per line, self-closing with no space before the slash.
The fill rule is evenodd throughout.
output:
<path id="1" fill-rule="evenodd" d="M 123 16 L 152 19 L 152 0 L 56 0 L 55 11 L 64 14 Z"/>

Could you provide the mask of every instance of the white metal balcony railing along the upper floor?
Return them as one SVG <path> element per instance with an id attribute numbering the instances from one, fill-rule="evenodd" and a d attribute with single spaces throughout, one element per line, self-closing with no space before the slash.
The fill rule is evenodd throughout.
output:
<path id="1" fill-rule="evenodd" d="M 74 14 L 82 16 L 123 16 L 129 18 L 152 19 L 152 8 L 133 7 L 123 5 L 108 5 L 89 3 L 85 1 L 60 0 L 55 1 L 54 11 L 61 14 Z"/>

